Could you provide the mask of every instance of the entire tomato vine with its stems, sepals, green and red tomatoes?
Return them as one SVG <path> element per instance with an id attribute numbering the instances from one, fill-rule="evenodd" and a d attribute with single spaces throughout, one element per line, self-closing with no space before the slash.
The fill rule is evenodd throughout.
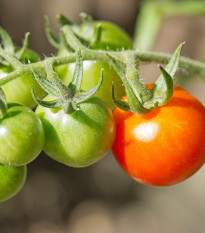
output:
<path id="1" fill-rule="evenodd" d="M 193 5 L 189 3 L 179 7 L 177 3 L 166 4 L 148 2 L 142 7 L 133 43 L 117 25 L 95 21 L 86 14 L 81 14 L 82 25 L 76 25 L 59 14 L 60 35 L 56 37 L 46 17 L 48 40 L 59 53 L 44 59 L 28 49 L 29 33 L 19 48 L 0 27 L 0 177 L 5 174 L 7 177 L 5 182 L 0 180 L 0 191 L 4 189 L 5 193 L 0 195 L 0 201 L 20 190 L 26 176 L 25 165 L 33 161 L 42 148 L 60 163 L 85 167 L 101 159 L 114 142 L 113 153 L 121 167 L 135 180 L 158 186 L 178 183 L 203 165 L 204 106 L 185 90 L 176 87 L 173 77 L 177 69 L 183 67 L 205 78 L 205 63 L 181 56 L 184 43 L 173 54 L 149 50 L 162 19 L 173 15 L 173 9 L 178 10 L 177 14 L 198 15 L 204 12 L 200 11 L 201 3 L 197 2 L 193 3 L 193 11 Z M 154 26 L 149 31 L 150 22 Z M 105 66 L 104 71 L 96 68 L 99 71 L 98 82 L 92 83 L 92 88 L 82 85 L 84 61 L 101 62 L 99 67 Z M 161 75 L 154 84 L 146 86 L 140 79 L 138 66 L 142 62 L 166 65 L 159 67 Z M 70 63 L 75 63 L 75 69 L 67 84 L 59 74 L 60 67 L 65 65 L 65 70 L 68 70 Z M 96 64 L 92 65 L 95 67 Z M 104 79 L 106 72 L 110 72 L 107 81 Z M 117 88 L 113 75 L 120 79 Z M 21 81 L 18 83 L 17 80 Z M 16 82 L 12 85 L 13 81 Z M 109 107 L 115 105 L 114 117 L 108 106 L 95 96 L 104 81 L 107 82 L 104 95 L 99 97 L 106 102 L 110 93 L 113 102 L 106 103 Z M 123 99 L 123 96 L 116 96 L 119 88 L 125 89 L 126 97 Z M 48 96 L 43 98 L 45 93 Z M 21 98 L 22 102 L 19 101 Z M 36 114 L 31 110 L 35 104 Z M 17 122 L 15 127 L 14 121 Z M 194 132 L 194 136 L 190 132 Z M 19 137 L 21 140 L 18 141 Z M 166 147 L 163 140 L 167 142 Z M 180 153 L 173 155 L 175 147 L 181 148 L 180 143 L 186 141 L 189 148 L 178 149 Z M 162 157 L 161 153 L 165 156 Z M 11 184 L 15 174 L 19 174 L 19 179 L 16 184 L 12 183 L 13 188 L 7 190 L 5 187 Z"/>

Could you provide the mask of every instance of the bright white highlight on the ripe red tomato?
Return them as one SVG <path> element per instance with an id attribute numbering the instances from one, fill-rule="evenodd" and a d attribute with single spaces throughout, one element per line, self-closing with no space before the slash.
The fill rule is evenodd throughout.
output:
<path id="1" fill-rule="evenodd" d="M 142 123 L 133 130 L 137 140 L 142 142 L 151 142 L 157 136 L 159 125 L 156 122 Z"/>

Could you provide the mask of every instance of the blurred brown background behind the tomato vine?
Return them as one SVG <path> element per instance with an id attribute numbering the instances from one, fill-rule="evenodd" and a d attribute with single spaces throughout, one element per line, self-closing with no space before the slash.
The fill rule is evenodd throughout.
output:
<path id="1" fill-rule="evenodd" d="M 0 0 L 0 25 L 21 45 L 31 32 L 30 48 L 42 56 L 55 54 L 44 33 L 49 16 L 58 33 L 56 14 L 79 23 L 79 13 L 109 20 L 131 36 L 138 0 Z M 205 16 L 166 18 L 153 50 L 173 52 L 186 41 L 183 55 L 204 59 Z M 143 65 L 141 78 L 154 81 L 156 64 Z M 205 104 L 205 82 L 187 79 L 183 84 Z M 0 204 L 1 233 L 203 233 L 205 230 L 205 167 L 187 181 L 167 188 L 148 187 L 130 179 L 109 153 L 83 169 L 66 167 L 43 153 L 28 166 L 23 190 Z"/>

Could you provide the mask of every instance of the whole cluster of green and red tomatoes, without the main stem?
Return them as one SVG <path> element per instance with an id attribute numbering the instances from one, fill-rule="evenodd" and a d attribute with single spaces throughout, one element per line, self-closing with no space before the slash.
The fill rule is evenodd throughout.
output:
<path id="1" fill-rule="evenodd" d="M 98 25 L 101 27 L 101 37 L 93 42 Z M 77 38 L 83 38 L 89 44 L 91 51 L 132 48 L 126 32 L 110 22 L 92 20 L 70 27 Z M 58 57 L 69 54 L 67 48 L 61 45 Z M 35 63 L 39 57 L 27 49 L 20 61 Z M 45 76 L 47 72 L 48 79 L 39 78 L 31 70 L 2 85 L 0 202 L 14 196 L 22 188 L 26 179 L 26 165 L 42 150 L 65 165 L 85 167 L 100 160 L 112 147 L 116 160 L 128 175 L 140 183 L 155 186 L 181 182 L 203 165 L 205 108 L 196 98 L 175 86 L 168 103 L 155 106 L 145 115 L 119 107 L 115 107 L 112 113 L 110 108 L 115 105 L 111 98 L 111 86 L 114 83 L 118 97 L 124 96 L 123 78 L 106 62 L 83 61 L 82 90 L 76 92 L 80 80 L 76 75 L 81 73 L 80 66 L 76 68 L 77 61 L 55 67 L 53 73 L 50 67 L 46 67 L 42 74 Z M 98 89 L 96 85 L 102 68 L 104 80 Z M 0 79 L 13 70 L 12 65 L 2 63 Z M 61 80 L 57 78 L 54 82 L 52 75 L 57 75 Z M 151 86 L 148 85 L 148 89 Z M 42 87 L 49 94 L 40 100 L 36 94 L 42 97 Z M 91 95 L 94 89 L 96 96 Z M 85 95 L 89 98 L 85 99 Z M 36 102 L 39 106 L 34 112 L 31 109 Z M 124 97 L 118 102 L 127 106 L 129 100 Z"/>

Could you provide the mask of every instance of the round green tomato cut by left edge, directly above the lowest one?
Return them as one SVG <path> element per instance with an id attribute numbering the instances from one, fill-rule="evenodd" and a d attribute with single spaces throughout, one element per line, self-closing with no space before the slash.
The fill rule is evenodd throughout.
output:
<path id="1" fill-rule="evenodd" d="M 44 145 L 40 119 L 29 108 L 8 104 L 0 119 L 0 163 L 21 166 L 33 161 Z"/>

